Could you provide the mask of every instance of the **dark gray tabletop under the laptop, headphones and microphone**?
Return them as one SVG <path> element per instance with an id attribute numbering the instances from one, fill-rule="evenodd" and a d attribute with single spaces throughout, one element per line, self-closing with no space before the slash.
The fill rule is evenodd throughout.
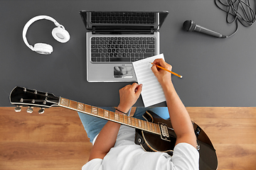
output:
<path id="1" fill-rule="evenodd" d="M 235 24 L 214 1 L 0 1 L 0 106 L 11 106 L 14 86 L 48 91 L 92 106 L 117 106 L 118 90 L 128 83 L 88 83 L 85 63 L 85 26 L 80 10 L 169 11 L 160 30 L 161 53 L 173 71 L 174 86 L 185 106 L 256 106 L 256 30 L 239 24 L 228 39 L 181 29 L 186 20 L 229 35 Z M 54 25 L 42 20 L 28 29 L 28 42 L 46 42 L 51 55 L 38 55 L 26 47 L 22 29 L 33 16 L 55 18 L 70 33 L 70 41 L 53 39 Z M 143 106 L 140 97 L 135 106 Z M 156 106 L 166 106 L 160 103 Z"/>

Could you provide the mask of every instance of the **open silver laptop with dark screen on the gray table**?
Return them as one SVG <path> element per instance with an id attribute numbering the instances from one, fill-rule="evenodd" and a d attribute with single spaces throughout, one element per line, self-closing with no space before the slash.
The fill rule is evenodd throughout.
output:
<path id="1" fill-rule="evenodd" d="M 159 55 L 168 11 L 80 11 L 88 82 L 137 81 L 132 62 Z"/>

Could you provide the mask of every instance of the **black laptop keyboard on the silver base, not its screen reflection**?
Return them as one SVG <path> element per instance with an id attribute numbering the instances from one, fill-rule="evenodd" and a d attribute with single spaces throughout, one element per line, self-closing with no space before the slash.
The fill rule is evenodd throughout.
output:
<path id="1" fill-rule="evenodd" d="M 92 37 L 92 62 L 135 62 L 155 55 L 154 37 Z"/>

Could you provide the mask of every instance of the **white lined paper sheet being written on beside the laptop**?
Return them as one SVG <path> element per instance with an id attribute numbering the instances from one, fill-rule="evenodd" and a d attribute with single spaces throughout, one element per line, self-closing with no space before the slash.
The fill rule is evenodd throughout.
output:
<path id="1" fill-rule="evenodd" d="M 152 64 L 150 62 L 154 62 L 155 59 L 159 58 L 164 59 L 164 55 L 155 55 L 137 62 L 132 62 L 138 84 L 143 84 L 142 101 L 145 107 L 166 101 L 161 84 L 151 70 Z"/>

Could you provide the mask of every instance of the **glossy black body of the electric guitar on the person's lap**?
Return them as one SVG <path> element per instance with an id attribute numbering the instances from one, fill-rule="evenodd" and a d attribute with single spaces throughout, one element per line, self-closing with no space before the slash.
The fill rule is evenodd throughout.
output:
<path id="1" fill-rule="evenodd" d="M 151 123 L 164 123 L 168 126 L 168 132 L 170 140 L 164 140 L 161 135 L 156 135 L 151 132 L 136 129 L 134 142 L 140 145 L 146 152 L 166 152 L 169 155 L 173 155 L 174 147 L 176 144 L 176 135 L 171 126 L 171 120 L 164 120 L 156 115 L 152 111 L 146 111 L 143 117 L 146 121 Z M 198 126 L 193 123 L 193 128 L 198 140 L 199 149 L 199 169 L 200 170 L 215 170 L 218 167 L 218 159 L 215 153 L 213 144 L 206 133 Z"/>

